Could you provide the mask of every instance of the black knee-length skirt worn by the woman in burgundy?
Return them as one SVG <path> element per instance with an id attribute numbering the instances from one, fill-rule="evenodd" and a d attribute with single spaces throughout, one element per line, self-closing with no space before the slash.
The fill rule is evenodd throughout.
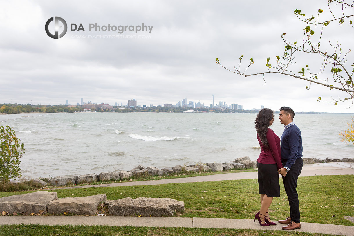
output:
<path id="1" fill-rule="evenodd" d="M 266 194 L 267 197 L 279 197 L 280 185 L 276 164 L 262 164 L 257 162 L 257 168 L 259 194 Z"/>

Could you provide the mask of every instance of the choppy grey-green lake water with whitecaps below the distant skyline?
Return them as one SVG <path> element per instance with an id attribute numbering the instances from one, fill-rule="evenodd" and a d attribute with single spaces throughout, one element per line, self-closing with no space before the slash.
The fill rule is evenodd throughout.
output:
<path id="1" fill-rule="evenodd" d="M 28 116 L 29 117 L 23 117 Z M 34 116 L 32 116 L 34 115 Z M 304 157 L 353 157 L 342 143 L 350 114 L 296 114 Z M 225 162 L 260 153 L 256 114 L 244 113 L 59 113 L 1 115 L 24 143 L 26 177 L 158 168 L 196 162 Z M 284 126 L 271 127 L 281 136 Z"/>

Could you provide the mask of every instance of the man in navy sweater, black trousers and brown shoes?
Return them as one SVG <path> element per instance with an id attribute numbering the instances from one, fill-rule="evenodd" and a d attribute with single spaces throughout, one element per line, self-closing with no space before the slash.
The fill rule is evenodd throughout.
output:
<path id="1" fill-rule="evenodd" d="M 283 176 L 286 195 L 289 199 L 290 217 L 279 220 L 283 230 L 300 229 L 300 207 L 297 196 L 297 178 L 302 170 L 302 138 L 300 129 L 293 122 L 295 112 L 290 107 L 281 107 L 279 120 L 285 126 L 280 139 L 281 161 L 283 168 L 278 172 Z"/>

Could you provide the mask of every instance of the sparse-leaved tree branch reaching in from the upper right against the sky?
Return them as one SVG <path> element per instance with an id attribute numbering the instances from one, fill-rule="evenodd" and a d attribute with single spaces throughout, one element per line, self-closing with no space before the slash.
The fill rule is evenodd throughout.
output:
<path id="1" fill-rule="evenodd" d="M 354 28 L 351 18 L 354 16 L 354 2 L 347 0 L 326 0 L 328 9 L 322 10 L 318 9 L 315 16 L 314 15 L 306 16 L 301 10 L 296 9 L 294 14 L 299 18 L 300 21 L 304 23 L 303 34 L 301 35 L 301 42 L 289 41 L 286 40 L 284 34 L 281 35 L 281 39 L 285 45 L 284 55 L 272 56 L 273 62 L 271 63 L 271 57 L 266 58 L 265 67 L 263 71 L 252 71 L 248 72 L 250 67 L 255 63 L 251 57 L 250 62 L 246 62 L 244 66 L 241 66 L 241 61 L 244 55 L 242 55 L 239 60 L 239 65 L 235 66 L 234 69 L 228 69 L 225 66 L 222 66 L 219 59 L 216 58 L 216 63 L 222 66 L 223 68 L 231 71 L 235 74 L 242 76 L 251 76 L 251 75 L 262 75 L 264 80 L 264 75 L 267 74 L 282 74 L 297 79 L 306 80 L 308 82 L 307 89 L 310 89 L 312 83 L 326 86 L 330 90 L 343 91 L 344 95 L 333 98 L 333 102 L 337 105 L 338 101 L 347 101 L 351 100 L 352 104 L 354 101 L 354 84 L 353 84 L 353 74 L 354 74 L 354 63 L 349 62 L 346 64 L 347 60 L 351 60 L 349 57 L 350 49 L 344 49 L 341 47 L 341 44 L 336 42 L 331 42 L 324 39 L 323 33 L 325 32 L 330 23 L 331 25 L 337 23 L 339 29 L 348 24 L 352 29 Z M 326 11 L 328 14 L 323 16 L 322 12 Z M 324 19 L 322 19 L 324 18 Z M 315 29 L 315 27 L 317 27 Z M 336 29 L 337 32 L 338 29 Z M 348 33 L 348 37 L 352 37 L 352 32 L 345 29 Z M 331 32 L 332 35 L 336 36 L 336 32 Z M 294 43 L 292 43 L 294 42 Z M 351 46 L 351 45 L 350 45 Z M 284 46 L 282 47 L 284 49 Z M 343 50 L 342 50 L 343 48 Z M 301 54 L 304 57 L 307 57 L 307 63 L 301 62 L 302 65 L 294 66 L 296 64 L 295 56 Z M 317 56 L 315 58 L 315 56 Z M 315 60 L 320 64 L 317 68 L 311 68 L 310 62 Z M 332 78 L 324 78 L 320 76 L 322 73 L 330 73 Z M 264 80 L 265 83 L 265 80 Z M 345 96 L 345 97 L 344 97 Z M 318 97 L 318 101 L 321 100 L 321 97 Z"/>

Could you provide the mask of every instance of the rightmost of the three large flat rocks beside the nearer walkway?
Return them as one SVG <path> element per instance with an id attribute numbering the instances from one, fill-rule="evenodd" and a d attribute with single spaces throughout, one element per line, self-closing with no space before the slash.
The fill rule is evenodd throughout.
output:
<path id="1" fill-rule="evenodd" d="M 108 203 L 110 215 L 173 216 L 175 211 L 184 211 L 184 202 L 172 198 L 126 197 Z"/>

